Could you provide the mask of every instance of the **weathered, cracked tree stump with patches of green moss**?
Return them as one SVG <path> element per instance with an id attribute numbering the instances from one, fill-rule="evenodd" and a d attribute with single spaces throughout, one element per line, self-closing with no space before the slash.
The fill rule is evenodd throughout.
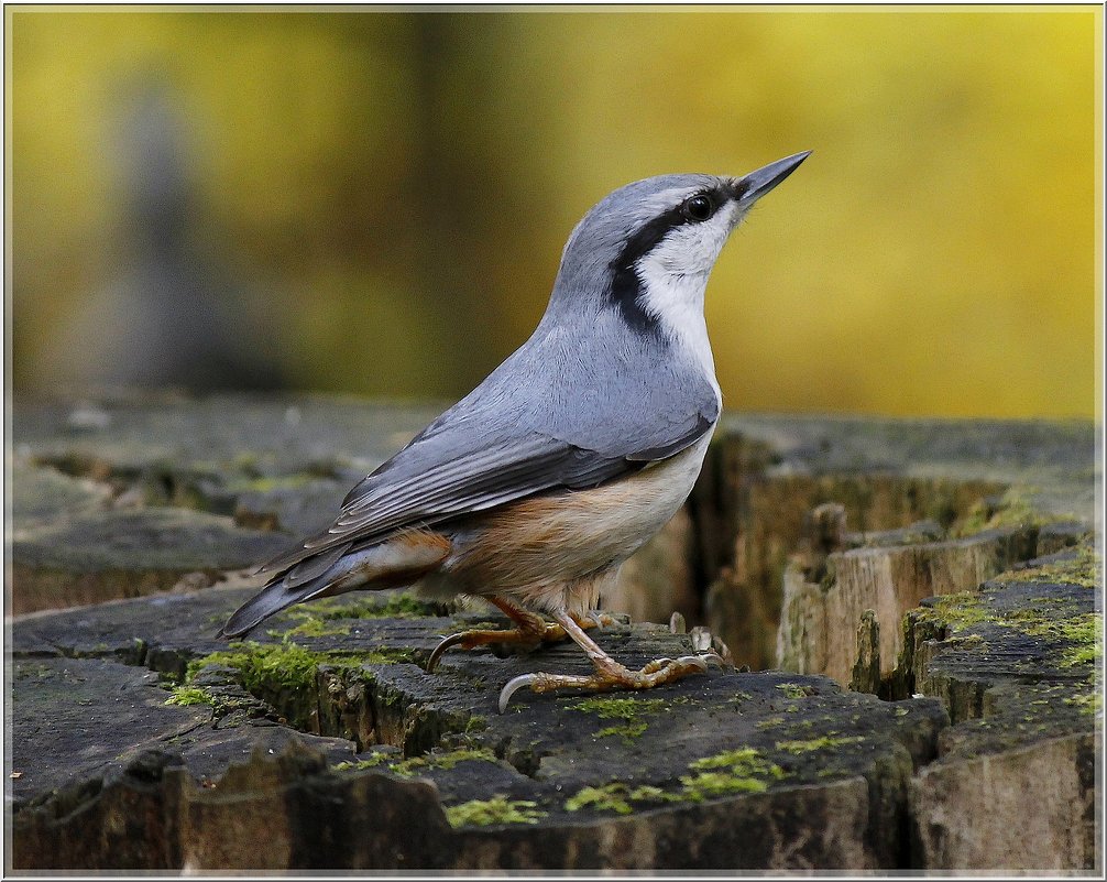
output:
<path id="1" fill-rule="evenodd" d="M 395 592 L 216 639 L 256 584 L 235 571 L 435 412 L 15 409 L 13 868 L 1098 866 L 1089 425 L 730 418 L 607 606 L 790 670 L 500 716 L 507 679 L 583 655 L 427 674 L 437 635 L 501 619 Z M 693 636 L 599 639 L 640 665 Z"/>

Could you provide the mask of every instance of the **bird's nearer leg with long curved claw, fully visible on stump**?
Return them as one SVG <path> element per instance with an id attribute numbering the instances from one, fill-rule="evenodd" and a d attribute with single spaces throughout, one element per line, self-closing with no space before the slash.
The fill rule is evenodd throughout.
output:
<path id="1" fill-rule="evenodd" d="M 511 696 L 525 686 L 535 693 L 549 693 L 555 689 L 651 689 L 663 683 L 673 683 L 689 674 L 702 674 L 707 670 L 710 657 L 682 656 L 681 658 L 659 658 L 650 662 L 641 670 L 631 670 L 615 662 L 589 637 L 573 617 L 565 612 L 554 613 L 554 618 L 565 629 L 573 642 L 583 649 L 596 667 L 596 673 L 584 676 L 579 674 L 523 674 L 504 687 L 499 694 L 499 712 L 507 709 Z"/>

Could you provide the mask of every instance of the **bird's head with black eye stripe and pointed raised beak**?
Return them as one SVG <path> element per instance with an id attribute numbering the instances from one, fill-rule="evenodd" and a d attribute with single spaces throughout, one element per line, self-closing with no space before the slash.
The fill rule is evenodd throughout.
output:
<path id="1" fill-rule="evenodd" d="M 614 308 L 640 332 L 679 326 L 690 310 L 702 316 L 707 277 L 731 232 L 809 153 L 744 177 L 662 175 L 620 187 L 573 229 L 550 306 Z"/>

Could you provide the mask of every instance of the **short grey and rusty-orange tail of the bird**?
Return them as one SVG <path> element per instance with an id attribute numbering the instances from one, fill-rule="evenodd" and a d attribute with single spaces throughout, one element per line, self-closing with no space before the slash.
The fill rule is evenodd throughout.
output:
<path id="1" fill-rule="evenodd" d="M 216 636 L 241 637 L 281 609 L 315 597 L 359 588 L 411 585 L 445 561 L 452 548 L 449 539 L 439 533 L 412 531 L 325 561 L 330 565 L 318 575 L 314 573 L 319 567 L 304 566 L 306 561 L 271 578 L 234 612 Z M 304 575 L 313 577 L 304 578 Z"/>

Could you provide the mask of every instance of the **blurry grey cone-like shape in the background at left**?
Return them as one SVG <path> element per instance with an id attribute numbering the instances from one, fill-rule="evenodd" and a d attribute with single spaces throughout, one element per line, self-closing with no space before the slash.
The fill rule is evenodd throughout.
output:
<path id="1" fill-rule="evenodd" d="M 110 115 L 121 218 L 103 285 L 46 341 L 68 383 L 277 389 L 280 351 L 244 308 L 242 283 L 194 239 L 188 123 L 156 71 L 121 90 Z"/>

